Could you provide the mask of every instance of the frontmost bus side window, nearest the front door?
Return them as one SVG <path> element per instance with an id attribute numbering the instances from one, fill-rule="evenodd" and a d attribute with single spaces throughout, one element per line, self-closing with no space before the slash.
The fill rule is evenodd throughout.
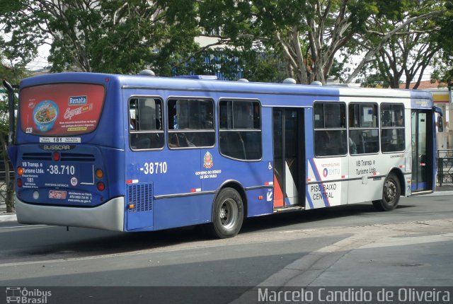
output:
<path id="1" fill-rule="evenodd" d="M 404 106 L 383 103 L 381 105 L 382 152 L 404 151 Z"/>

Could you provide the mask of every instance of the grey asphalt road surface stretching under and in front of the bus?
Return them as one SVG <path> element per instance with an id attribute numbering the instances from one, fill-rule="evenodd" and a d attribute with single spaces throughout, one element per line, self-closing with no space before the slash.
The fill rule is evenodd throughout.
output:
<path id="1" fill-rule="evenodd" d="M 259 285 L 453 286 L 452 223 L 447 196 L 401 199 L 391 212 L 361 204 L 251 218 L 227 240 L 193 228 L 113 233 L 0 223 L 0 286 L 224 286 L 201 289 L 198 303 L 229 303 Z"/>

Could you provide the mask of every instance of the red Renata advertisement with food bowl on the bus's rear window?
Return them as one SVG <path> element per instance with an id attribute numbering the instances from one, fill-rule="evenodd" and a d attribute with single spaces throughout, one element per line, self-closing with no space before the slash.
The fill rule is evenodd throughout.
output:
<path id="1" fill-rule="evenodd" d="M 21 127 L 27 134 L 71 136 L 98 126 L 103 107 L 103 86 L 58 83 L 21 90 Z"/>

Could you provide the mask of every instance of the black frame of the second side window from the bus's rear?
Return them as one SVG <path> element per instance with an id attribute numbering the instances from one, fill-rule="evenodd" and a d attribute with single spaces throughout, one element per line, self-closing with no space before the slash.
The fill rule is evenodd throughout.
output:
<path id="1" fill-rule="evenodd" d="M 170 129 L 170 127 L 168 126 L 169 124 L 169 120 L 168 120 L 168 115 L 169 115 L 169 111 L 168 111 L 168 101 L 169 100 L 210 100 L 211 103 L 212 103 L 212 130 L 210 129 L 182 129 L 182 130 L 185 130 L 185 131 L 182 131 L 181 129 L 177 129 L 177 130 L 174 130 L 174 129 Z M 178 95 L 170 95 L 167 97 L 166 99 L 166 102 L 165 102 L 165 105 L 164 107 L 166 108 L 166 114 L 165 114 L 165 126 L 166 126 L 166 130 L 165 130 L 165 133 L 166 133 L 166 146 L 169 150 L 194 150 L 194 149 L 202 149 L 202 148 L 214 148 L 215 147 L 215 144 L 216 144 L 216 123 L 215 123 L 215 106 L 216 106 L 216 103 L 215 103 L 215 100 L 214 98 L 212 97 L 207 97 L 207 96 L 178 96 Z M 186 146 L 186 147 L 171 147 L 169 146 L 169 143 L 170 141 L 168 141 L 168 134 L 178 134 L 178 133 L 204 133 L 204 132 L 212 132 L 214 133 L 214 143 L 212 144 L 212 146 Z M 164 145 L 165 146 L 165 145 Z"/>

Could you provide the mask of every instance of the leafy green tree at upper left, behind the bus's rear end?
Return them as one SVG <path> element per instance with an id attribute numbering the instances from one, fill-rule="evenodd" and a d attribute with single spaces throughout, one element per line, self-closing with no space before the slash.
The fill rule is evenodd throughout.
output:
<path id="1" fill-rule="evenodd" d="M 15 57 L 51 45 L 53 71 L 137 73 L 171 62 L 196 47 L 197 2 L 191 0 L 4 0 L 0 23 Z"/>

